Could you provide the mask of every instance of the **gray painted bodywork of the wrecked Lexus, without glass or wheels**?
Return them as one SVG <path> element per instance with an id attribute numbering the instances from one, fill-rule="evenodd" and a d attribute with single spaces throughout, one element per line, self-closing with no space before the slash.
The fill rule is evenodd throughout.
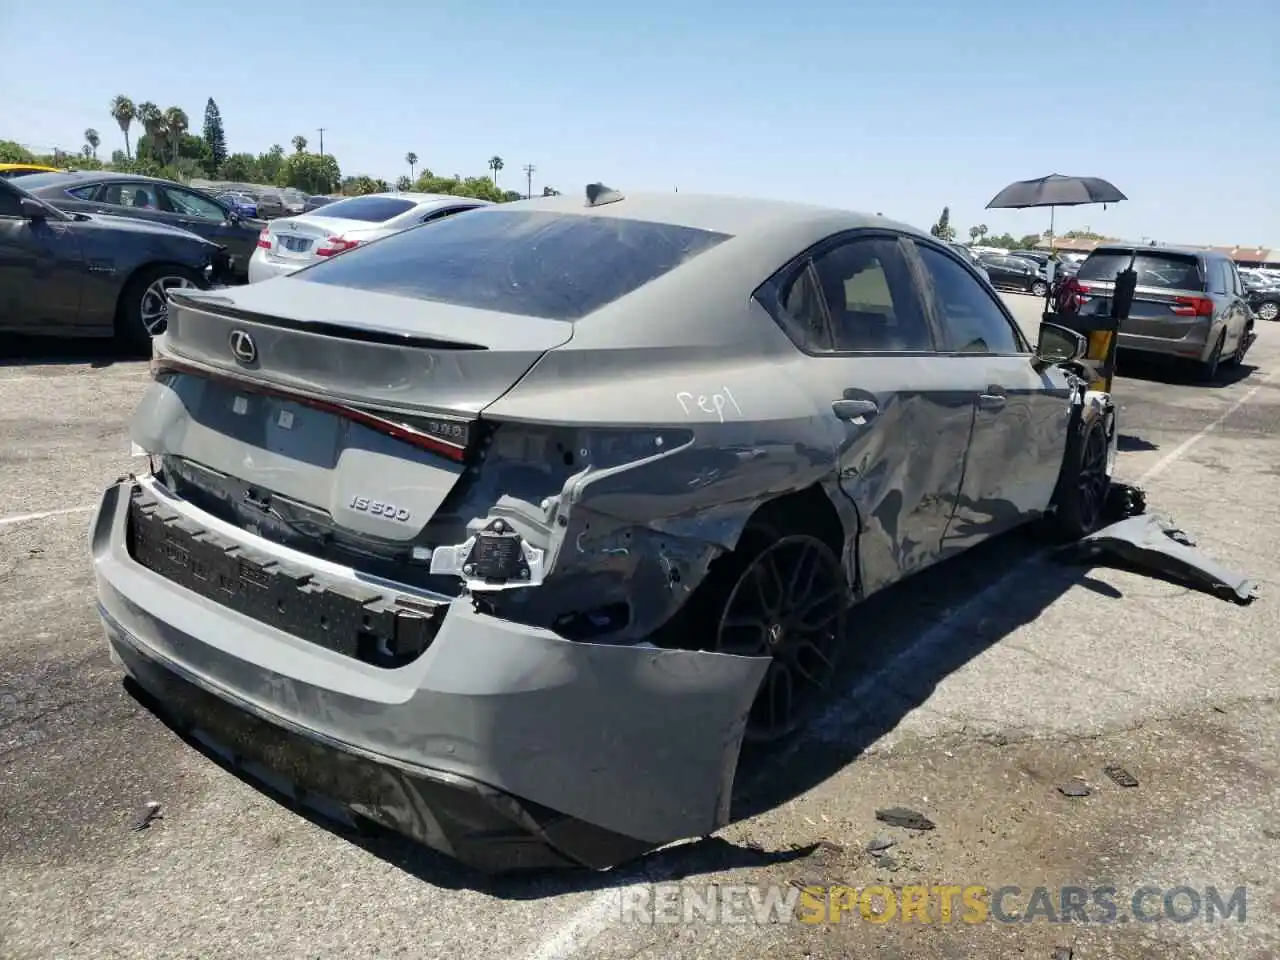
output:
<path id="1" fill-rule="evenodd" d="M 584 212 L 567 198 L 532 204 Z M 733 549 L 762 504 L 820 492 L 842 527 L 852 593 L 864 596 L 1048 509 L 1073 411 L 1092 417 L 1102 407 L 1082 404 L 1083 389 L 1064 369 L 1037 371 L 1029 351 L 809 357 L 751 297 L 832 234 L 877 229 L 934 243 L 911 228 L 686 195 L 590 212 L 736 237 L 575 325 L 294 279 L 179 296 L 157 357 L 223 380 L 202 385 L 180 374 L 154 384 L 133 426 L 133 439 L 170 463 L 325 506 L 348 531 L 445 548 L 442 570 L 449 548 L 502 517 L 541 552 L 545 579 L 490 598 L 488 614 L 467 600 L 467 590 L 484 595 L 483 584 L 460 584 L 460 599 L 435 594 L 452 603 L 442 632 L 419 660 L 385 671 L 255 625 L 131 561 L 123 503 L 133 481 L 104 497 L 95 567 L 104 608 L 128 643 L 229 695 L 370 751 L 663 842 L 724 823 L 745 710 L 767 660 L 660 650 L 644 637 Z M 402 346 L 334 338 L 319 323 Z M 257 338 L 248 366 L 228 349 L 234 329 Z M 428 343 L 403 346 L 408 337 Z M 489 349 L 448 349 L 433 338 Z M 237 425 L 227 411 L 238 378 L 384 415 L 479 413 L 500 426 L 484 467 L 458 471 L 369 431 L 339 430 L 330 413 L 280 406 L 291 401 Z M 1005 404 L 979 408 L 992 384 L 1005 387 Z M 874 399 L 879 415 L 836 419 L 832 402 L 849 390 Z M 284 439 L 270 426 L 282 412 L 314 433 Z M 617 428 L 650 430 L 652 454 L 613 463 L 559 453 L 589 454 L 593 439 Z M 456 499 L 440 511 L 451 490 Z M 393 534 L 344 511 L 353 492 L 408 498 L 412 522 Z M 287 549 L 253 534 L 271 529 L 269 517 L 239 509 L 237 525 L 200 511 L 191 520 L 257 550 Z M 325 567 L 305 553 L 293 559 Z M 567 607 L 612 598 L 636 611 L 618 634 L 585 644 L 550 631 Z"/>

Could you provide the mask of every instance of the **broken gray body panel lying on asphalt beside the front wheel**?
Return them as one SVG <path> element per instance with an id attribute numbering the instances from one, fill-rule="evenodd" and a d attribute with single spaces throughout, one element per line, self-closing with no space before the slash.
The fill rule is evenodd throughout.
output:
<path id="1" fill-rule="evenodd" d="M 1105 553 L 1239 604 L 1256 600 L 1261 589 L 1256 580 L 1233 573 L 1197 550 L 1184 530 L 1153 513 L 1111 524 L 1068 550 L 1076 561 L 1093 561 Z"/>

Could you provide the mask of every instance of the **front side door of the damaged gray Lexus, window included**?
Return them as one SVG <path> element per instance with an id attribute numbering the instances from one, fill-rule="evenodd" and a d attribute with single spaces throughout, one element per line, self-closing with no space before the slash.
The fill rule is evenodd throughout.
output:
<path id="1" fill-rule="evenodd" d="M 1037 370 L 1000 294 L 941 244 L 915 242 L 924 301 L 948 372 L 974 403 L 973 438 L 943 554 L 1005 532 L 1053 497 L 1071 413 L 1068 374 Z"/>

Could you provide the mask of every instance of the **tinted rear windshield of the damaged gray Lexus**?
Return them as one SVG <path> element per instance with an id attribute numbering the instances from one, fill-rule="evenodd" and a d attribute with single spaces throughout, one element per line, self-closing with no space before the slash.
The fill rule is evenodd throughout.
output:
<path id="1" fill-rule="evenodd" d="M 486 209 L 357 247 L 294 279 L 580 320 L 726 239 L 645 220 Z"/>

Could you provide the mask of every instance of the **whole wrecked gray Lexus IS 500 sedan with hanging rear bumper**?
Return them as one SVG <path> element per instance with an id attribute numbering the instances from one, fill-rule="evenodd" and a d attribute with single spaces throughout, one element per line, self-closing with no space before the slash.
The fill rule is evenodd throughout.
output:
<path id="1" fill-rule="evenodd" d="M 684 193 L 497 205 L 174 293 L 91 526 L 114 659 L 250 776 L 486 872 L 730 815 L 850 607 L 1098 522 L 1083 339 L 913 228 Z"/>

